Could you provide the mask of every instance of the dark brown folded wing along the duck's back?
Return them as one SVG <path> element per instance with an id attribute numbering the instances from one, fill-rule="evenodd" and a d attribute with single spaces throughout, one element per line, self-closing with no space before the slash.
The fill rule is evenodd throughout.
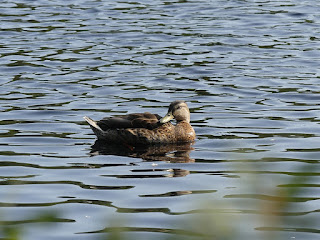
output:
<path id="1" fill-rule="evenodd" d="M 103 130 L 108 129 L 123 129 L 123 128 L 146 128 L 154 129 L 159 126 L 159 119 L 161 116 L 158 114 L 145 113 L 132 113 L 122 116 L 103 118 L 98 121 L 98 126 Z"/>

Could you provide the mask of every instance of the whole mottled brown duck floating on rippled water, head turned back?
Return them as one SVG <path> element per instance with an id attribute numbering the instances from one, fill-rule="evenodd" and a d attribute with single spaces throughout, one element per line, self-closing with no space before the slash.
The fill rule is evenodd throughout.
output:
<path id="1" fill-rule="evenodd" d="M 194 142 L 190 110 L 185 101 L 173 101 L 161 117 L 150 112 L 106 117 L 94 121 L 85 116 L 99 141 L 129 146 Z M 172 124 L 171 120 L 176 120 Z"/>

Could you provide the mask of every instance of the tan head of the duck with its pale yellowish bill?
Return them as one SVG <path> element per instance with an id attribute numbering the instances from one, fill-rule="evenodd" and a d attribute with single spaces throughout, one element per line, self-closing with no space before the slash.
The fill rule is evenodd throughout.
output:
<path id="1" fill-rule="evenodd" d="M 166 123 L 175 119 L 177 122 L 190 122 L 190 111 L 185 101 L 174 101 L 170 104 L 168 113 L 161 118 L 160 123 Z"/>

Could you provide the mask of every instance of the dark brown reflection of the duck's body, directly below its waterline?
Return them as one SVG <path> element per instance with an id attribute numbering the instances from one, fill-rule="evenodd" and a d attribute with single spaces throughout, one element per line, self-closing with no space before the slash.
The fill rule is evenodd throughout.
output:
<path id="1" fill-rule="evenodd" d="M 171 163 L 194 162 L 190 152 L 194 150 L 192 143 L 166 144 L 151 146 L 126 146 L 121 144 L 106 144 L 97 140 L 91 148 L 92 155 L 116 155 L 141 158 L 145 161 L 167 161 Z"/>

